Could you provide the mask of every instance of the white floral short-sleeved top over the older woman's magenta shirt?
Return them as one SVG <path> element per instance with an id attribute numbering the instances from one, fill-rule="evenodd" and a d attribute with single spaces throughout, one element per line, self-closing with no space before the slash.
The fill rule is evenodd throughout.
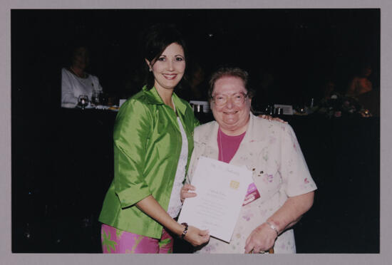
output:
<path id="1" fill-rule="evenodd" d="M 195 129 L 195 149 L 187 182 L 192 182 L 200 156 L 218 159 L 218 128 L 217 122 L 212 121 Z M 249 234 L 282 207 L 288 197 L 316 189 L 294 131 L 288 124 L 251 114 L 247 133 L 230 164 L 245 165 L 252 170 L 260 197 L 242 207 L 229 244 L 211 237 L 197 253 L 243 254 Z M 289 229 L 275 241 L 274 253 L 295 252 L 294 232 Z"/>

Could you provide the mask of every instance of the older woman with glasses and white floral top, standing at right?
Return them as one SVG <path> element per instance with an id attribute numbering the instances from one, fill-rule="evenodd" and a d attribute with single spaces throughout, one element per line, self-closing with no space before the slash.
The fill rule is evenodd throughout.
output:
<path id="1" fill-rule="evenodd" d="M 199 253 L 262 253 L 271 248 L 274 253 L 295 253 L 290 227 L 313 204 L 316 185 L 294 131 L 290 125 L 250 113 L 247 80 L 247 72 L 239 68 L 215 72 L 209 95 L 216 121 L 195 129 L 188 183 L 200 156 L 245 165 L 254 180 L 229 244 L 211 237 Z M 196 196 L 191 192 L 195 188 L 185 184 L 182 199 Z"/>

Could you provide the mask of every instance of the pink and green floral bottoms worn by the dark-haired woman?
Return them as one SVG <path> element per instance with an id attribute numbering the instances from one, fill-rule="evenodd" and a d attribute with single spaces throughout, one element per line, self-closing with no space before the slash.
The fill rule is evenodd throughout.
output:
<path id="1" fill-rule="evenodd" d="M 107 224 L 100 229 L 103 253 L 172 253 L 173 239 L 163 229 L 160 239 L 126 232 Z"/>

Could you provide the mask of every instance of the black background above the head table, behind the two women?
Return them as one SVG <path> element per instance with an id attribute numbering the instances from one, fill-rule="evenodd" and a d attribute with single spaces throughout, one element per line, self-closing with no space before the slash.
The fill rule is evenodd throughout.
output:
<path id="1" fill-rule="evenodd" d="M 11 11 L 13 91 L 48 83 L 68 66 L 70 46 L 83 41 L 90 73 L 106 92 L 127 95 L 143 63 L 140 31 L 160 22 L 177 24 L 188 65 L 197 61 L 206 76 L 223 63 L 247 69 L 254 80 L 272 73 L 275 103 L 317 98 L 328 78 L 344 92 L 363 64 L 373 68 L 379 89 L 379 9 L 98 9 Z"/>

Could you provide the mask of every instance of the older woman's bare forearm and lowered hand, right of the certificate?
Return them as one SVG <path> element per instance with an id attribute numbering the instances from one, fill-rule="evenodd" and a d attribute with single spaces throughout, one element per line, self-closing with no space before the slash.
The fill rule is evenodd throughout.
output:
<path id="1" fill-rule="evenodd" d="M 267 222 L 252 231 L 245 242 L 245 253 L 252 250 L 253 253 L 259 253 L 271 249 L 278 235 L 296 224 L 311 208 L 313 198 L 314 192 L 289 197 L 282 207 L 267 219 Z"/>

